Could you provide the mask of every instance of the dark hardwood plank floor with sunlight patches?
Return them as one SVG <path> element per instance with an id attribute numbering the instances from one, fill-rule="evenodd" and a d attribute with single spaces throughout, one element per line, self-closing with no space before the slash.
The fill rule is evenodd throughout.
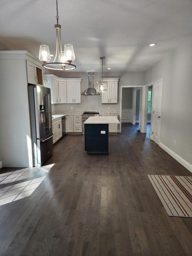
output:
<path id="1" fill-rule="evenodd" d="M 109 156 L 66 135 L 43 167 L 2 168 L 0 255 L 191 256 L 192 218 L 169 217 L 147 174 L 192 174 L 137 129 L 109 136 Z"/>

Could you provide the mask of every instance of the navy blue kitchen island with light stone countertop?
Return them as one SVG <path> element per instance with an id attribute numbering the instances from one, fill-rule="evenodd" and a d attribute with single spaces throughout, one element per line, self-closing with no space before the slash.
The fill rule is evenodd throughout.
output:
<path id="1" fill-rule="evenodd" d="M 109 155 L 109 124 L 119 124 L 115 116 L 91 116 L 85 122 L 85 151 L 89 155 Z"/>

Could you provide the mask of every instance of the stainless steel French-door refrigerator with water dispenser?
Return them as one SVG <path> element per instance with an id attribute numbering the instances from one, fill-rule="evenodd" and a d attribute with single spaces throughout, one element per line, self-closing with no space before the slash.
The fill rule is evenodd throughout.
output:
<path id="1" fill-rule="evenodd" d="M 33 166 L 41 166 L 53 153 L 51 90 L 28 84 Z"/>

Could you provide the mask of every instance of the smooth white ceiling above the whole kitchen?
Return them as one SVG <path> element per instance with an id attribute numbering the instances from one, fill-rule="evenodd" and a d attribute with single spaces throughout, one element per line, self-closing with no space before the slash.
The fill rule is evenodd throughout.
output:
<path id="1" fill-rule="evenodd" d="M 142 71 L 192 37 L 191 0 L 58 0 L 62 44 L 72 43 L 75 71 Z M 54 0 L 0 0 L 0 48 L 55 51 Z M 157 46 L 149 47 L 155 42 Z"/>

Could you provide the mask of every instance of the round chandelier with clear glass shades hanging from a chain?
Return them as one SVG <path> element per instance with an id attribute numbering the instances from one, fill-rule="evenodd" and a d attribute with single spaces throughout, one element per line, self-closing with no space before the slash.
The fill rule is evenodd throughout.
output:
<path id="1" fill-rule="evenodd" d="M 76 66 L 71 63 L 72 61 L 75 60 L 75 53 L 74 53 L 72 44 L 65 44 L 64 51 L 62 51 L 61 25 L 59 25 L 59 22 L 58 22 L 59 16 L 58 16 L 57 0 L 56 0 L 56 13 L 57 13 L 57 16 L 56 16 L 57 24 L 55 24 L 55 30 L 56 30 L 55 58 L 54 58 L 53 62 L 49 62 L 51 60 L 49 46 L 48 45 L 40 45 L 39 60 L 43 62 L 42 66 L 44 68 L 54 69 L 54 70 L 72 70 L 72 69 L 76 68 Z M 57 56 L 58 56 L 58 62 L 56 62 Z"/>

